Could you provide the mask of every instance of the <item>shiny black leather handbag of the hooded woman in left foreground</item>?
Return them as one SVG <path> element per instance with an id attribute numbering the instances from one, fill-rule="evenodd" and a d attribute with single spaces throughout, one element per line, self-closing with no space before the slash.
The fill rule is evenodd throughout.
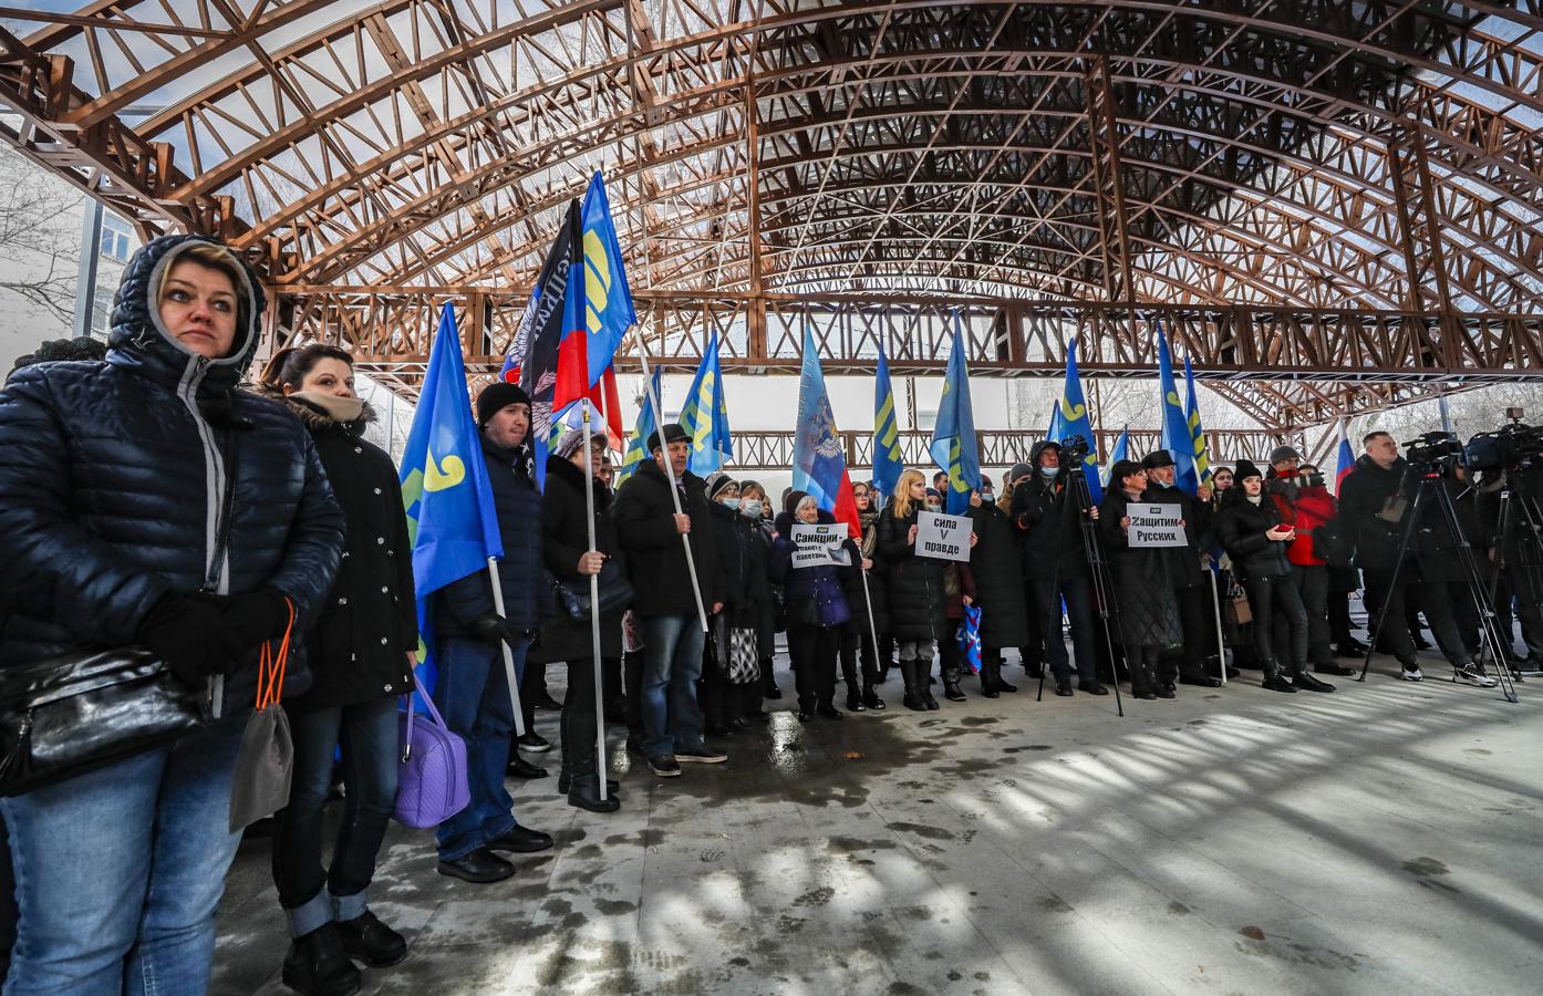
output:
<path id="1" fill-rule="evenodd" d="M 63 782 L 210 722 L 193 688 L 140 648 L 76 651 L 0 671 L 0 796 Z"/>

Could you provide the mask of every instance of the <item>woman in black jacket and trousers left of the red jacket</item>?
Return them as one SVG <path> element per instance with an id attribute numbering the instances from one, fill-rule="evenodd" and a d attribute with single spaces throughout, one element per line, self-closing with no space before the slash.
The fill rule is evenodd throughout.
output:
<path id="1" fill-rule="evenodd" d="M 1233 475 L 1236 484 L 1222 495 L 1216 513 L 1216 535 L 1248 589 L 1264 686 L 1278 692 L 1333 691 L 1332 685 L 1307 674 L 1307 609 L 1291 584 L 1291 561 L 1285 552 L 1295 533 L 1281 523 L 1281 510 L 1264 493 L 1264 475 L 1258 467 L 1239 459 Z M 1285 666 L 1273 640 L 1276 612 L 1285 617 L 1291 634 L 1291 658 Z"/>

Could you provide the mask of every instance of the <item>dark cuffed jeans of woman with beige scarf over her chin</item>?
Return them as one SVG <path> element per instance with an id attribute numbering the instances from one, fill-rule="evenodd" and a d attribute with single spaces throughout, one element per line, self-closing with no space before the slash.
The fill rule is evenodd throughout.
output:
<path id="1" fill-rule="evenodd" d="M 333 919 L 352 920 L 369 908 L 364 890 L 375 876 L 375 856 L 397 805 L 397 769 L 401 766 L 397 702 L 392 697 L 289 712 L 295 777 L 290 802 L 275 817 L 273 883 L 295 937 Z M 332 759 L 339 746 L 347 792 L 329 871 L 321 865 L 321 814 L 332 788 Z"/>

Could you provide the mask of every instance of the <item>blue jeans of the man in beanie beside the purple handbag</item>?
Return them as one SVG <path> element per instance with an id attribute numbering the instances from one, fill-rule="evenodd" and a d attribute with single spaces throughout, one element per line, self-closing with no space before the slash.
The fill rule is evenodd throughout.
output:
<path id="1" fill-rule="evenodd" d="M 529 649 L 528 637 L 512 644 L 515 681 L 525 674 L 525 652 Z M 440 823 L 440 860 L 452 862 L 515 825 L 511 813 L 514 799 L 503 786 L 514 742 L 514 709 L 500 648 L 481 640 L 447 637 L 440 640 L 438 665 L 434 705 L 451 732 L 466 742 L 466 780 L 472 794 L 464 809 Z"/>

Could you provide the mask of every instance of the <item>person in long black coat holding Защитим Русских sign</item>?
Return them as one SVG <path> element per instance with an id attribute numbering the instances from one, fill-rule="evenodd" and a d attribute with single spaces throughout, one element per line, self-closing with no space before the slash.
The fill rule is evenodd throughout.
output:
<path id="1" fill-rule="evenodd" d="M 1146 470 L 1134 459 L 1119 459 L 1109 469 L 1109 490 L 1099 506 L 1099 529 L 1114 575 L 1116 606 L 1137 698 L 1176 698 L 1170 675 L 1159 680 L 1163 649 L 1183 641 L 1173 581 L 1162 549 L 1131 546 L 1131 506 L 1145 504 Z"/>

